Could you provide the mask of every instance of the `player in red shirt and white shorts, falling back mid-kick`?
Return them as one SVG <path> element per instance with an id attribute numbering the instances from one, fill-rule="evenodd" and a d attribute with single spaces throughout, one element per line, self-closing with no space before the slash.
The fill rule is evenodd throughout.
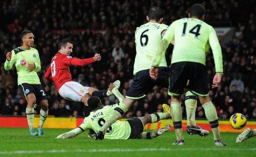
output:
<path id="1" fill-rule="evenodd" d="M 98 91 L 96 88 L 85 87 L 72 81 L 69 66 L 84 66 L 100 61 L 99 54 L 88 59 L 72 58 L 70 55 L 73 52 L 73 42 L 68 38 L 62 39 L 58 48 L 58 53 L 52 58 L 51 66 L 47 69 L 45 78 L 54 82 L 60 96 L 67 100 L 83 102 L 87 106 L 87 100 L 90 96 L 102 98 L 112 94 L 109 90 Z M 120 82 L 114 84 L 120 86 Z"/>

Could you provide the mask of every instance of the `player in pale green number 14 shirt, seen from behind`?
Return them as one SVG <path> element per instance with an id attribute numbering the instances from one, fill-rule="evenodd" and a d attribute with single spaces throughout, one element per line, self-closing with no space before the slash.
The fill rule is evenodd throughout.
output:
<path id="1" fill-rule="evenodd" d="M 218 115 L 208 95 L 208 77 L 205 66 L 205 47 L 210 44 L 216 66 L 212 88 L 220 85 L 223 73 L 221 46 L 214 28 L 205 23 L 205 8 L 195 4 L 190 8 L 188 18 L 182 18 L 170 24 L 166 31 L 157 55 L 150 69 L 152 79 L 158 76 L 161 56 L 164 55 L 169 43 L 174 39 L 175 46 L 170 67 L 170 83 L 168 94 L 172 97 L 170 104 L 177 141 L 173 144 L 183 145 L 184 138 L 181 127 L 180 94 L 184 88 L 198 95 L 210 123 L 216 146 L 225 146 L 221 140 Z M 186 86 L 189 80 L 189 85 Z"/>

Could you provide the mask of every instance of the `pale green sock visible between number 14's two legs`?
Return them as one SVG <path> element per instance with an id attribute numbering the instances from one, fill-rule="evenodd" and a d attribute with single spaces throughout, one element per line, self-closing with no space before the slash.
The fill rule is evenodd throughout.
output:
<path id="1" fill-rule="evenodd" d="M 186 92 L 185 106 L 187 115 L 187 126 L 196 126 L 197 96 L 190 91 Z"/>

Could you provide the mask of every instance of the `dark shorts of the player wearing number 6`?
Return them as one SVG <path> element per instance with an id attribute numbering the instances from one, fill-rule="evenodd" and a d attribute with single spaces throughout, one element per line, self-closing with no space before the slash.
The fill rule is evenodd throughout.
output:
<path id="1" fill-rule="evenodd" d="M 168 88 L 169 86 L 169 67 L 159 67 L 157 80 L 150 77 L 150 69 L 139 71 L 133 78 L 133 83 L 128 89 L 126 97 L 130 99 L 140 99 L 152 90 L 155 85 Z"/>

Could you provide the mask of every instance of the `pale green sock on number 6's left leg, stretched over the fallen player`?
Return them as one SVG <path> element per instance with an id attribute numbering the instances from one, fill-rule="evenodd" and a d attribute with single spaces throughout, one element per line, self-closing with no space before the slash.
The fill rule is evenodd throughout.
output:
<path id="1" fill-rule="evenodd" d="M 104 125 L 99 129 L 103 134 L 106 133 L 106 130 L 112 125 L 114 122 L 117 121 L 125 112 L 127 112 L 127 107 L 124 103 L 120 103 L 111 113 L 108 119 L 106 119 Z"/>

